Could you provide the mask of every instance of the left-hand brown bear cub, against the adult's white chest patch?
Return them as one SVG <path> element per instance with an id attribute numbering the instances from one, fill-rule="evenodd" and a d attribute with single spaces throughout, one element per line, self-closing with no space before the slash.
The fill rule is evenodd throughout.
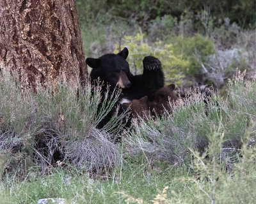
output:
<path id="1" fill-rule="evenodd" d="M 131 108 L 132 118 L 134 119 L 147 119 L 147 117 L 150 116 L 147 96 L 144 96 L 140 99 L 133 99 L 131 103 L 123 103 L 122 105 L 125 108 Z"/>

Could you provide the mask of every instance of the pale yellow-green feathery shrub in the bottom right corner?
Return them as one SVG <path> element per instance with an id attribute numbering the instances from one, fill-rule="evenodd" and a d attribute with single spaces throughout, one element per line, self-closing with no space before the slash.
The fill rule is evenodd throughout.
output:
<path id="1" fill-rule="evenodd" d="M 255 187 L 255 146 L 250 138 L 255 135 L 255 121 L 248 127 L 242 139 L 241 149 L 227 156 L 225 133 L 221 126 L 212 128 L 209 145 L 204 154 L 191 150 L 192 162 L 189 167 L 192 177 L 182 182 L 192 184 L 197 193 L 189 199 L 191 203 L 253 203 Z M 230 170 L 230 160 L 233 162 Z"/>

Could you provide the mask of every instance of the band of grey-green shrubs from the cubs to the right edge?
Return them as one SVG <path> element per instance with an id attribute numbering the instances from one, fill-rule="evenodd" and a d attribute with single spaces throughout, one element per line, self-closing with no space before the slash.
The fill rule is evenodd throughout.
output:
<path id="1" fill-rule="evenodd" d="M 186 164 L 192 156 L 189 149 L 204 154 L 211 142 L 212 128 L 220 127 L 220 132 L 225 133 L 225 157 L 237 154 L 256 115 L 255 78 L 246 80 L 244 76 L 238 72 L 230 80 L 227 98 L 214 92 L 190 92 L 170 104 L 172 112 L 166 112 L 164 117 L 135 123 L 127 138 L 130 153 L 144 154 L 151 161 Z M 255 141 L 253 135 L 250 141 Z M 233 161 L 230 160 L 230 168 Z"/>

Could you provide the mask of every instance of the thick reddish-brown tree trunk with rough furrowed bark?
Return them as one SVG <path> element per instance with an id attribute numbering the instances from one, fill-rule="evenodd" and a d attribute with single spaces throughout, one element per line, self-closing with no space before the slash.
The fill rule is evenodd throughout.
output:
<path id="1" fill-rule="evenodd" d="M 88 74 L 74 0 L 0 0 L 0 68 L 24 87 L 83 84 Z"/>

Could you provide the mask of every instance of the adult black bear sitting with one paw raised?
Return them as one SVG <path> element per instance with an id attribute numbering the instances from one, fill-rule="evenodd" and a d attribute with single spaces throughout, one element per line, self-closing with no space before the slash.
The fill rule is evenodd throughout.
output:
<path id="1" fill-rule="evenodd" d="M 129 64 L 126 61 L 129 51 L 124 48 L 118 54 L 106 54 L 95 59 L 88 57 L 86 64 L 92 68 L 90 74 L 92 82 L 99 78 L 102 82 L 102 94 L 109 85 L 110 92 L 113 92 L 118 86 L 122 89 L 119 103 L 131 102 L 132 99 L 140 99 L 148 96 L 148 101 L 153 101 L 154 92 L 164 85 L 164 75 L 161 69 L 161 62 L 152 56 L 143 59 L 143 74 L 132 75 Z M 117 105 L 117 104 L 116 104 Z M 122 108 L 120 108 L 122 112 Z M 115 109 L 111 110 L 108 115 L 100 121 L 98 128 L 104 125 L 112 117 Z"/>

